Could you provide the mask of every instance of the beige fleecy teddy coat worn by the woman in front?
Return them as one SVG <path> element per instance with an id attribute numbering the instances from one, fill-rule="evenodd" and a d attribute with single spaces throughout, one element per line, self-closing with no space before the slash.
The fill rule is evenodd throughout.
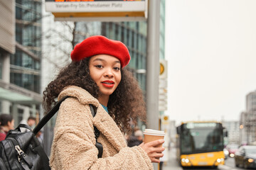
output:
<path id="1" fill-rule="evenodd" d="M 50 167 L 57 169 L 153 169 L 142 147 L 127 147 L 122 132 L 96 98 L 78 86 L 69 86 L 58 99 L 60 105 L 50 154 Z M 92 117 L 90 106 L 97 107 Z M 98 142 L 103 146 L 102 158 L 97 158 L 93 125 L 100 130 Z"/>

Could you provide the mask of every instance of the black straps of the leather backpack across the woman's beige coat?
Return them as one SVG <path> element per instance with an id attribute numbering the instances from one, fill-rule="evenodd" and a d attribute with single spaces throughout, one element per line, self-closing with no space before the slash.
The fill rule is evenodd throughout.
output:
<path id="1" fill-rule="evenodd" d="M 38 123 L 38 125 L 36 125 L 36 127 L 33 129 L 33 134 L 36 135 L 42 128 L 44 125 L 46 125 L 46 123 L 48 123 L 48 121 L 50 120 L 50 118 L 53 118 L 53 115 L 55 115 L 55 113 L 59 110 L 60 108 L 60 104 L 65 101 L 66 98 L 69 98 L 70 96 L 64 96 L 63 98 L 60 99 L 60 101 L 58 101 L 55 106 L 53 106 L 53 108 L 49 111 L 49 113 L 45 116 L 43 116 L 43 118 L 40 120 L 40 122 Z M 95 117 L 96 113 L 95 113 L 95 109 L 93 108 L 93 106 L 90 104 L 90 110 L 92 113 L 92 117 Z M 95 137 L 96 137 L 96 147 L 99 150 L 98 153 L 98 158 L 102 157 L 102 153 L 103 153 L 103 147 L 102 144 L 100 144 L 99 142 L 97 142 L 97 137 L 100 136 L 100 131 L 97 130 L 97 128 L 95 126 L 94 130 L 95 130 Z"/>

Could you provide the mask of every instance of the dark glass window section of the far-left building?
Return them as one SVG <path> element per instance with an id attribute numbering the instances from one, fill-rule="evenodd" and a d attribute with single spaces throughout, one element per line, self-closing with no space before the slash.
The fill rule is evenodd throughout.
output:
<path id="1" fill-rule="evenodd" d="M 11 56 L 11 83 L 40 93 L 41 1 L 16 0 L 16 42 L 31 52 L 16 49 Z"/>

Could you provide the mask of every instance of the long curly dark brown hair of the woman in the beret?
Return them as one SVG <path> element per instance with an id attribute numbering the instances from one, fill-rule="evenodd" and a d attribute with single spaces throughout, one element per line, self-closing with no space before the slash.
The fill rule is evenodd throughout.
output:
<path id="1" fill-rule="evenodd" d="M 56 98 L 66 86 L 79 86 L 98 98 L 99 87 L 90 77 L 90 58 L 71 62 L 60 70 L 58 76 L 43 91 L 43 108 L 46 113 L 57 102 Z M 131 123 L 137 125 L 137 118 L 146 119 L 146 106 L 137 79 L 127 69 L 121 70 L 122 79 L 110 95 L 107 110 L 122 132 L 131 132 Z"/>

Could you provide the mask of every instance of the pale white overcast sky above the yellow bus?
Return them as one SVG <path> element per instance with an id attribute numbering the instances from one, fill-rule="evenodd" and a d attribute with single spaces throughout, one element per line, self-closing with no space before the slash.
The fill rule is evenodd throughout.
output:
<path id="1" fill-rule="evenodd" d="M 166 0 L 171 120 L 239 120 L 256 90 L 255 0 Z"/>

